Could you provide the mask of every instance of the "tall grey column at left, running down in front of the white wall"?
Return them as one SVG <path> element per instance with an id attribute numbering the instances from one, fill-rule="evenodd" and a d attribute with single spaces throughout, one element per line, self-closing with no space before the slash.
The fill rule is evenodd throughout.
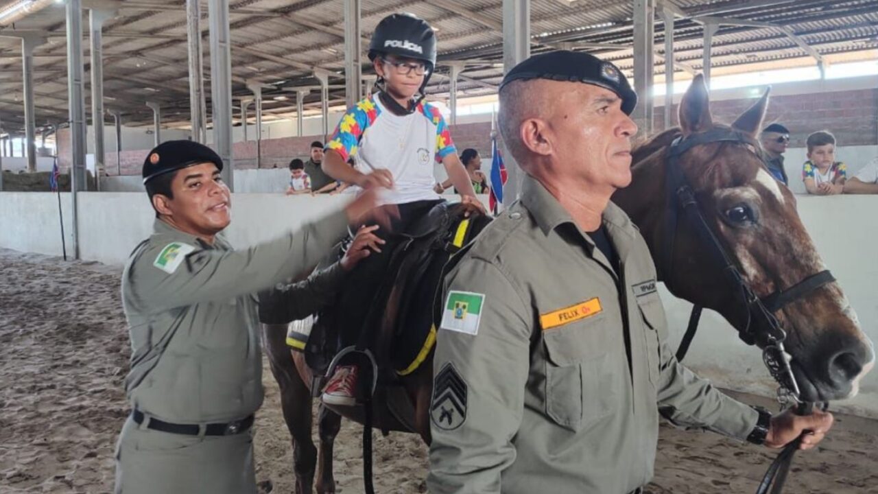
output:
<path id="1" fill-rule="evenodd" d="M 76 193 L 86 190 L 85 99 L 83 98 L 83 4 L 67 0 L 67 81 L 70 121 L 70 177 L 73 200 L 73 258 L 79 258 L 78 201 Z"/>

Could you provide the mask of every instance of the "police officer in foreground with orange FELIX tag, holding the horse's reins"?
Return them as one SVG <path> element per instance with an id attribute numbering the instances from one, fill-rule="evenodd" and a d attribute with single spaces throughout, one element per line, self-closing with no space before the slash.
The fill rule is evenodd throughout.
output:
<path id="1" fill-rule="evenodd" d="M 432 494 L 625 494 L 652 476 L 659 410 L 678 425 L 813 447 L 831 415 L 771 418 L 682 367 L 644 239 L 610 202 L 631 180 L 637 104 L 612 63 L 537 54 L 500 84 L 521 198 L 445 280 Z"/>

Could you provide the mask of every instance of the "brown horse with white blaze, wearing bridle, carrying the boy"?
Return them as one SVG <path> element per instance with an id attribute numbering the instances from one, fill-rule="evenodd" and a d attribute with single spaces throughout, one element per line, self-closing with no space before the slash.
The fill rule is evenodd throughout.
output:
<path id="1" fill-rule="evenodd" d="M 767 105 L 766 96 L 732 125 L 739 132 L 759 133 Z M 663 265 L 666 232 L 665 158 L 673 140 L 704 132 L 715 126 L 710 118 L 707 89 L 696 78 L 680 103 L 681 128 L 659 134 L 634 151 L 633 182 L 613 200 L 631 216 L 650 245 L 659 277 L 676 296 L 716 309 L 736 328 L 746 325 L 740 308 L 723 288 L 718 266 L 705 255 L 702 243 L 684 222 L 678 223 L 671 270 Z M 726 127 L 728 128 L 728 127 Z M 785 289 L 802 278 L 824 270 L 798 214 L 795 197 L 764 171 L 754 149 L 745 145 L 712 143 L 699 146 L 680 158 L 680 167 L 694 187 L 703 214 L 730 252 L 745 281 L 759 295 Z M 430 308 L 424 308 L 430 310 Z M 860 378 L 872 367 L 872 345 L 837 283 L 817 288 L 807 301 L 794 301 L 777 317 L 788 331 L 787 350 L 792 355 L 802 398 L 834 400 L 857 393 Z M 316 489 L 335 492 L 332 448 L 341 418 L 320 408 L 320 454 L 311 439 L 311 373 L 301 353 L 284 344 L 285 326 L 266 327 L 264 338 L 273 374 L 281 389 L 284 419 L 292 435 L 297 494 L 310 494 L 317 469 Z M 385 429 L 411 429 L 429 443 L 428 406 L 432 392 L 432 357 L 402 378 L 411 403 L 409 427 L 392 417 L 376 417 Z M 362 423 L 361 410 L 338 410 Z M 387 415 L 387 414 L 384 414 Z M 319 460 L 319 463 L 318 463 Z"/>

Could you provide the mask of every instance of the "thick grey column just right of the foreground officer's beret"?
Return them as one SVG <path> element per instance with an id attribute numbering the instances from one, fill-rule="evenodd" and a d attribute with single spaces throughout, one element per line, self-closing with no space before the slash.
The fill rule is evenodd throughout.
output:
<path id="1" fill-rule="evenodd" d="M 651 0 L 634 0 L 634 90 L 637 108 L 631 118 L 637 123 L 639 134 L 650 134 L 652 127 L 652 33 L 654 17 Z"/>

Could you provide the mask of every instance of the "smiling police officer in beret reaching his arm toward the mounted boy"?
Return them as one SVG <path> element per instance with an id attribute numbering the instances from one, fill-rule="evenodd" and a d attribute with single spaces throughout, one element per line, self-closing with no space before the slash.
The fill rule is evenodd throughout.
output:
<path id="1" fill-rule="evenodd" d="M 164 142 L 143 163 L 155 225 L 122 276 L 133 412 L 117 447 L 117 493 L 256 491 L 250 428 L 263 386 L 254 294 L 302 276 L 375 206 L 366 192 L 276 240 L 234 251 L 220 233 L 231 207 L 222 169 L 212 149 L 190 141 Z M 380 243 L 373 231 L 361 230 L 338 265 L 302 283 L 291 297 L 302 316 Z"/>

